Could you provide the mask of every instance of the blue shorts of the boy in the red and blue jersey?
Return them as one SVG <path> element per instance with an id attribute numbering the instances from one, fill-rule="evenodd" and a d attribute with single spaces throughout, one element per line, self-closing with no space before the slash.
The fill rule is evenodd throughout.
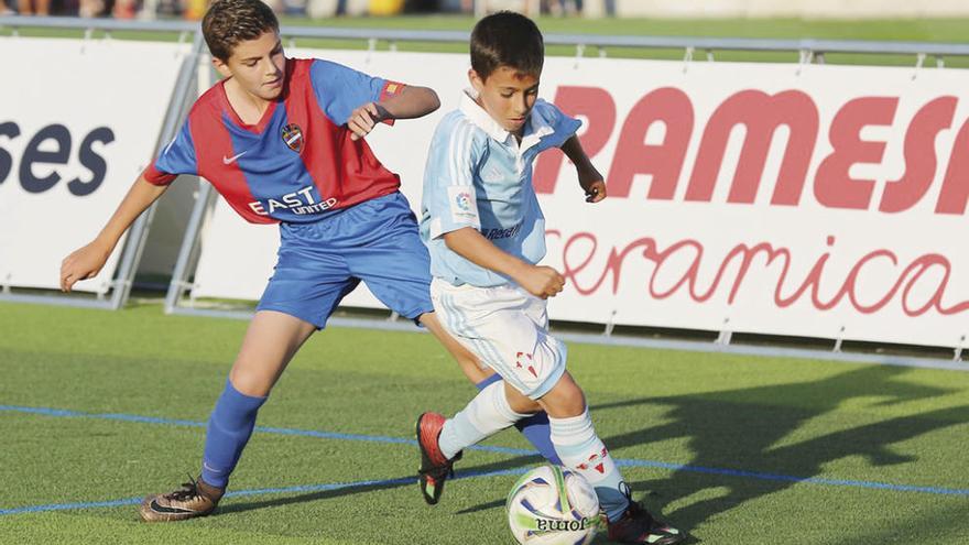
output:
<path id="1" fill-rule="evenodd" d="M 257 310 L 276 310 L 323 329 L 362 280 L 410 319 L 434 310 L 431 257 L 400 192 L 366 200 L 312 224 L 281 224 L 275 272 Z"/>

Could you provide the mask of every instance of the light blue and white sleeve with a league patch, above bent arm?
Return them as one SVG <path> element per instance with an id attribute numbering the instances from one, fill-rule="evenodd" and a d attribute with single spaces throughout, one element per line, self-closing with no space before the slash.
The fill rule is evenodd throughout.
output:
<path id="1" fill-rule="evenodd" d="M 438 127 L 424 172 L 424 203 L 432 239 L 471 227 L 481 229 L 475 177 L 487 159 L 486 135 L 467 121 Z"/>

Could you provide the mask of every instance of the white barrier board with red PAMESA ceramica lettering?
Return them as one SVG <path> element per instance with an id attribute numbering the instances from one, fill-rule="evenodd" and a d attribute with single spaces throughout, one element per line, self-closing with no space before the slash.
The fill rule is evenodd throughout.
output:
<path id="1" fill-rule="evenodd" d="M 467 86 L 467 57 L 290 53 L 437 90 L 438 112 L 370 137 L 417 209 L 431 134 Z M 568 279 L 549 315 L 959 346 L 967 89 L 958 69 L 547 58 L 541 95 L 585 121 L 609 187 L 588 205 L 557 152 L 536 164 L 545 263 Z M 221 203 L 213 219 L 196 295 L 258 298 L 277 230 L 246 229 Z"/>

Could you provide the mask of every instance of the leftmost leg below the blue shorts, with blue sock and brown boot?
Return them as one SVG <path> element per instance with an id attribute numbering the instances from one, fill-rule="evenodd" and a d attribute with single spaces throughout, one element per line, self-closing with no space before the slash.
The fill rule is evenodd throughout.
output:
<path id="1" fill-rule="evenodd" d="M 139 513 L 148 522 L 209 514 L 252 435 L 259 407 L 296 350 L 316 330 L 313 324 L 273 310 L 255 313 L 226 388 L 209 417 L 202 479 L 183 490 L 145 498 Z"/>

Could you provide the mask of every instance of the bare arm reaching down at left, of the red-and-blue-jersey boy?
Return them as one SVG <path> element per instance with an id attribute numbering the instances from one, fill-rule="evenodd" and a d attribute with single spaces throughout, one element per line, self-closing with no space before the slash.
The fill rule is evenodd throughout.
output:
<path id="1" fill-rule="evenodd" d="M 75 250 L 61 262 L 61 290 L 70 292 L 75 282 L 97 276 L 124 231 L 167 188 L 167 185 L 154 185 L 144 176 L 139 176 L 97 238 Z"/>

